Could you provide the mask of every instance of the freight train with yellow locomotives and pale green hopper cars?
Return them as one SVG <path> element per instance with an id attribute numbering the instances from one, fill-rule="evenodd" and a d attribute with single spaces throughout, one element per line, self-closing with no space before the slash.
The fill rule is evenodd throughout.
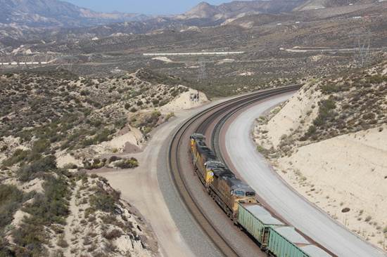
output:
<path id="1" fill-rule="evenodd" d="M 311 244 L 295 228 L 274 218 L 256 199 L 255 191 L 236 178 L 205 144 L 205 136 L 190 137 L 192 162 L 208 195 L 234 224 L 255 239 L 262 251 L 275 257 L 332 257 Z"/>

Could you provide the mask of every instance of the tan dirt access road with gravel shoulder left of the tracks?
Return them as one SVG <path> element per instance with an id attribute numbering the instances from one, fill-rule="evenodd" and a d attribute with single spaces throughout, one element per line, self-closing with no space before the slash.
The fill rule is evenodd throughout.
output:
<path id="1" fill-rule="evenodd" d="M 210 105 L 176 112 L 177 117 L 153 131 L 143 152 L 127 154 L 127 157 L 139 160 L 137 169 L 98 172 L 146 218 L 158 239 L 159 256 L 220 256 L 186 210 L 167 166 L 167 148 L 172 132 L 184 119 Z"/>

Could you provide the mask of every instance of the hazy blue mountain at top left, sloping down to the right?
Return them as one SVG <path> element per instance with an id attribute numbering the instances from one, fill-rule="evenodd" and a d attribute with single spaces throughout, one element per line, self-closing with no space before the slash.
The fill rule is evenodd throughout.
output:
<path id="1" fill-rule="evenodd" d="M 58 0 L 0 0 L 0 24 L 28 27 L 85 27 L 141 21 L 134 13 L 98 13 Z"/>

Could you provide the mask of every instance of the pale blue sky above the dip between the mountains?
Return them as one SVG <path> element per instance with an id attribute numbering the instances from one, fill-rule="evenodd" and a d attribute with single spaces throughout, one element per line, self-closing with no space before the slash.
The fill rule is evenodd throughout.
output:
<path id="1" fill-rule="evenodd" d="M 184 13 L 203 0 L 62 0 L 94 11 L 109 13 L 144 13 L 165 15 Z M 208 4 L 222 4 L 227 0 L 208 0 Z"/>

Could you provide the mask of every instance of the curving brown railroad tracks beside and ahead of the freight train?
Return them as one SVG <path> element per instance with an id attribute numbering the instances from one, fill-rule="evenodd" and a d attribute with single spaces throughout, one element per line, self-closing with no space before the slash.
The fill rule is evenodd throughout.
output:
<path id="1" fill-rule="evenodd" d="M 230 242 L 225 239 L 225 237 L 222 235 L 222 232 L 220 232 L 218 228 L 212 225 L 205 210 L 201 208 L 195 199 L 193 192 L 191 192 L 187 186 L 189 181 L 187 181 L 184 177 L 182 172 L 184 170 L 184 166 L 181 164 L 181 160 L 179 159 L 179 152 L 188 150 L 184 147 L 182 148 L 182 145 L 184 145 L 184 140 L 188 142 L 192 131 L 205 133 L 213 121 L 215 121 L 215 119 L 218 117 L 221 117 L 220 121 L 216 124 L 215 129 L 212 131 L 211 136 L 212 149 L 217 150 L 219 131 L 224 122 L 227 121 L 227 119 L 231 117 L 232 114 L 238 112 L 241 110 L 241 108 L 251 105 L 259 100 L 263 100 L 274 95 L 280 95 L 282 93 L 296 91 L 298 88 L 300 88 L 300 85 L 259 91 L 249 95 L 243 95 L 231 100 L 227 100 L 218 105 L 214 105 L 185 121 L 172 137 L 172 141 L 168 149 L 168 164 L 170 167 L 172 180 L 175 183 L 175 187 L 177 188 L 182 201 L 186 205 L 191 215 L 194 217 L 198 225 L 200 225 L 202 230 L 206 235 L 208 235 L 212 243 L 217 247 L 218 251 L 220 251 L 223 256 L 239 256 L 239 253 L 236 249 L 234 249 L 233 246 L 231 246 Z"/>

